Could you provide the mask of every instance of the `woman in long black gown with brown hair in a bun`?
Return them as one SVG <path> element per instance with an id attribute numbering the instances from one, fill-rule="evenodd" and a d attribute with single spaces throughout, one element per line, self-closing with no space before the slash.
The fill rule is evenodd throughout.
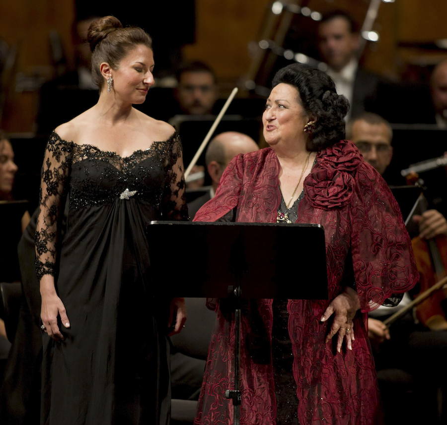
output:
<path id="1" fill-rule="evenodd" d="M 168 315 L 174 332 L 186 316 L 153 295 L 145 228 L 187 219 L 180 140 L 132 108 L 153 84 L 148 34 L 107 16 L 88 41 L 98 103 L 55 129 L 42 169 L 42 423 L 167 424 Z"/>

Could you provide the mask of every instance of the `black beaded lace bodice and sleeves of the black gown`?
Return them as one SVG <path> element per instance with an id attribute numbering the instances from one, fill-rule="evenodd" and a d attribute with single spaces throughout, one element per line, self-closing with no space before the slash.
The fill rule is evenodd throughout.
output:
<path id="1" fill-rule="evenodd" d="M 71 210 L 115 202 L 125 191 L 151 204 L 160 219 L 187 218 L 181 142 L 177 133 L 128 157 L 94 145 L 48 140 L 35 234 L 36 273 L 55 275 L 58 234 L 66 199 Z"/>

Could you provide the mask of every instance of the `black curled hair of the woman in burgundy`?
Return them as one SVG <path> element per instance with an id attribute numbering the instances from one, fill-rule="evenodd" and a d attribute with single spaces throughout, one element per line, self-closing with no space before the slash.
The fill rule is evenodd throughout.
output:
<path id="1" fill-rule="evenodd" d="M 316 117 L 315 128 L 309 133 L 307 149 L 319 151 L 345 138 L 344 117 L 349 110 L 348 100 L 337 94 L 332 79 L 323 71 L 300 63 L 281 68 L 272 86 L 290 84 L 298 90 L 298 102 L 307 115 Z"/>

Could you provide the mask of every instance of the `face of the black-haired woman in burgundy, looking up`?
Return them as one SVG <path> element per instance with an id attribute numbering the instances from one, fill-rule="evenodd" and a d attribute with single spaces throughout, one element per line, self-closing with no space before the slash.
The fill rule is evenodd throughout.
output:
<path id="1" fill-rule="evenodd" d="M 272 89 L 262 115 L 264 138 L 272 148 L 281 142 L 302 138 L 304 125 L 308 121 L 295 87 L 280 83 Z"/>

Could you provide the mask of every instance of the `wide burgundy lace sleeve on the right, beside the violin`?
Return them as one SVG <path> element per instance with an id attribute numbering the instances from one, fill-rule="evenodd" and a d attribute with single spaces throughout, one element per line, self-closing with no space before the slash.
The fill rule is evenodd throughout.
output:
<path id="1" fill-rule="evenodd" d="M 367 312 L 411 289 L 419 273 L 399 205 L 369 164 L 358 169 L 349 215 L 356 289 Z"/>

